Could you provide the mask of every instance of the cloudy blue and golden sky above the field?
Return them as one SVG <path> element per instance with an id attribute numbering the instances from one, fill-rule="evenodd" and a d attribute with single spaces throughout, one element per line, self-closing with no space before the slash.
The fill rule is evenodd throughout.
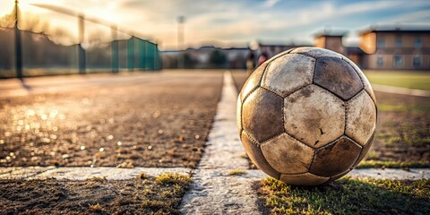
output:
<path id="1" fill-rule="evenodd" d="M 0 1 L 0 15 L 10 13 L 14 0 Z M 359 30 L 370 25 L 430 24 L 428 0 L 21 0 L 23 14 L 37 14 L 52 28 L 65 28 L 77 38 L 73 17 L 30 4 L 54 4 L 115 22 L 159 43 L 177 47 L 177 17 L 185 16 L 185 47 L 313 44 L 319 30 L 348 30 L 347 46 L 357 45 Z M 25 16 L 25 15 L 23 15 Z M 30 15 L 28 15 L 30 16 Z M 86 23 L 87 39 L 110 39 L 107 27 Z M 73 39 L 72 39 L 73 40 Z"/>

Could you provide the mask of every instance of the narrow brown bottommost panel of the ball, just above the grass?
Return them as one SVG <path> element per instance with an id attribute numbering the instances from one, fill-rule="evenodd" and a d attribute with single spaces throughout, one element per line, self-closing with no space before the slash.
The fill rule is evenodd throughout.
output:
<path id="1" fill-rule="evenodd" d="M 302 173 L 294 175 L 280 174 L 280 180 L 288 185 L 323 185 L 330 177 L 315 176 L 311 173 Z"/>

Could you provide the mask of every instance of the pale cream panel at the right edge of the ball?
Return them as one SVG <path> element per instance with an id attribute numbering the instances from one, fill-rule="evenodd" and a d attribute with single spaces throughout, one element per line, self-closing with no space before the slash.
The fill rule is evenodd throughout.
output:
<path id="1" fill-rule="evenodd" d="M 376 107 L 366 91 L 361 91 L 347 102 L 347 125 L 345 133 L 360 145 L 366 142 L 376 128 Z"/>

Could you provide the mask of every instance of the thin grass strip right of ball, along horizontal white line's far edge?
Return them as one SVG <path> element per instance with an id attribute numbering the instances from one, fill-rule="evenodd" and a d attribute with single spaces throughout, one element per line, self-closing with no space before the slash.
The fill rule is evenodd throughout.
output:
<path id="1" fill-rule="evenodd" d="M 383 160 L 363 160 L 357 168 L 430 168 L 430 162 L 426 160 L 411 161 L 383 161 Z"/>

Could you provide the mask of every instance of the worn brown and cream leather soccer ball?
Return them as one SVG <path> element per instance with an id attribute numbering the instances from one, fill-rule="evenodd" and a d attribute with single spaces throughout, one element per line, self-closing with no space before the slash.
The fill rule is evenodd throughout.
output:
<path id="1" fill-rule="evenodd" d="M 347 57 L 298 47 L 255 69 L 237 99 L 245 151 L 289 185 L 323 185 L 364 159 L 376 126 L 374 91 Z"/>

